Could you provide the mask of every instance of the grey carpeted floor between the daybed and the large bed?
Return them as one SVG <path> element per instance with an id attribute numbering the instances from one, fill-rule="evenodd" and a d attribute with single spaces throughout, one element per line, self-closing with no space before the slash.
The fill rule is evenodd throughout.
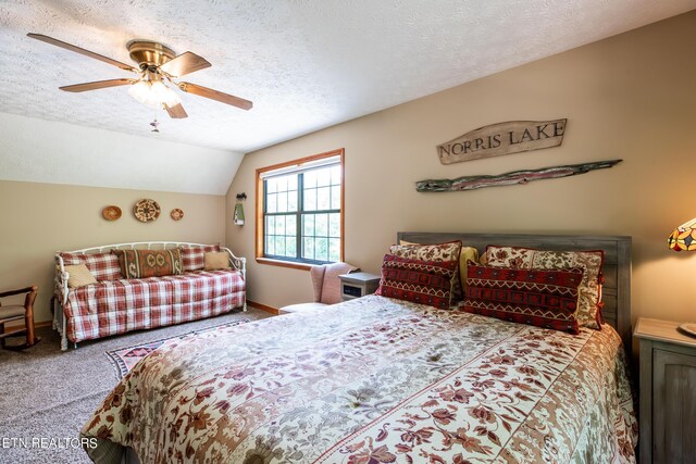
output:
<path id="1" fill-rule="evenodd" d="M 70 440 L 117 384 L 105 351 L 269 316 L 249 308 L 246 313 L 85 341 L 66 352 L 60 350 L 58 334 L 47 327 L 37 330 L 41 341 L 28 350 L 0 350 L 0 463 L 91 462 Z"/>

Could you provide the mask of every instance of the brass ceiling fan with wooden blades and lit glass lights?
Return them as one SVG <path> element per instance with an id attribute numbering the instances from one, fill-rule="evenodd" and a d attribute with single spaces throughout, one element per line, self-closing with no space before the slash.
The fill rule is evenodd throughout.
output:
<path id="1" fill-rule="evenodd" d="M 149 40 L 132 40 L 126 48 L 130 53 L 130 59 L 137 63 L 137 67 L 108 57 L 95 53 L 84 48 L 45 36 L 42 34 L 27 34 L 33 39 L 51 43 L 55 47 L 64 48 L 79 54 L 84 54 L 95 60 L 103 61 L 124 71 L 136 73 L 136 78 L 120 78 L 109 80 L 98 80 L 94 83 L 75 84 L 60 87 L 69 92 L 83 92 L 87 90 L 104 89 L 108 87 L 130 86 L 128 93 L 136 100 L 153 108 L 164 108 L 173 118 L 188 117 L 182 101 L 166 83 L 178 87 L 181 90 L 194 93 L 199 97 L 217 100 L 222 103 L 231 104 L 243 110 L 250 110 L 252 103 L 239 97 L 213 90 L 208 87 L 191 83 L 175 81 L 174 79 L 186 74 L 210 67 L 211 64 L 202 57 L 187 51 L 176 55 L 170 48 Z"/>

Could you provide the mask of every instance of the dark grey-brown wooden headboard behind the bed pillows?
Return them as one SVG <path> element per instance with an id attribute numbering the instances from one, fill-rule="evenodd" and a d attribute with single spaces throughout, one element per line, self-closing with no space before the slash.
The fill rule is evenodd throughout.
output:
<path id="1" fill-rule="evenodd" d="M 539 250 L 604 250 L 602 315 L 607 324 L 613 326 L 621 336 L 625 350 L 631 352 L 631 237 L 400 231 L 397 234 L 397 243 L 399 240 L 415 243 L 461 240 L 464 247 L 474 247 L 480 253 L 488 244 Z"/>

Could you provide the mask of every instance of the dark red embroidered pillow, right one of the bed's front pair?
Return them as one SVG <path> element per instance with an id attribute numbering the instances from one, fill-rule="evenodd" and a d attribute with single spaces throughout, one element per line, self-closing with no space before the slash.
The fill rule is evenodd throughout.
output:
<path id="1" fill-rule="evenodd" d="M 469 265 L 461 308 L 468 313 L 579 334 L 583 271 Z"/>

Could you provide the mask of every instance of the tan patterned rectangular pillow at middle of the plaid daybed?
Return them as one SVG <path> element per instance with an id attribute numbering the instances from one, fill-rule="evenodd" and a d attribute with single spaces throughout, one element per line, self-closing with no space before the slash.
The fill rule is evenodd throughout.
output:
<path id="1" fill-rule="evenodd" d="M 182 274 L 181 249 L 112 250 L 119 256 L 125 278 L 162 277 Z"/>

